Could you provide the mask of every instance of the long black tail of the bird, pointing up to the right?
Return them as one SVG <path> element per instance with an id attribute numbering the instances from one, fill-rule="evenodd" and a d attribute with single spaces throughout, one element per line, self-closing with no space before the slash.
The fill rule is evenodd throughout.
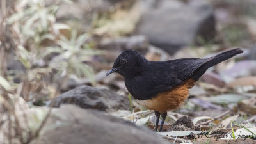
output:
<path id="1" fill-rule="evenodd" d="M 216 56 L 212 56 L 211 58 L 208 58 L 209 61 L 204 63 L 201 67 L 199 67 L 196 72 L 193 74 L 192 78 L 195 79 L 196 81 L 201 77 L 205 71 L 214 66 L 217 65 L 218 63 L 221 63 L 222 61 L 228 60 L 229 58 L 232 58 L 233 56 L 236 56 L 237 54 L 241 54 L 244 51 L 237 48 L 237 49 L 232 49 L 229 51 L 222 52 L 220 54 L 217 54 Z"/>

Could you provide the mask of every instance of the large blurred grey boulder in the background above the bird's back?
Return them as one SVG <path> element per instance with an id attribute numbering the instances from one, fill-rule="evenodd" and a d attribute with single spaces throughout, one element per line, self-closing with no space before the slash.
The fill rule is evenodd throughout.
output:
<path id="1" fill-rule="evenodd" d="M 150 44 L 173 54 L 180 47 L 196 44 L 198 36 L 205 40 L 215 34 L 212 6 L 204 1 L 141 1 L 141 21 L 136 33 L 146 35 Z"/>

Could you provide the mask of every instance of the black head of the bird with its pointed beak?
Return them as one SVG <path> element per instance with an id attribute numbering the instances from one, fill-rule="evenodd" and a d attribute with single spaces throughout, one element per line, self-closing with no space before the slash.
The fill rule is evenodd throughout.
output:
<path id="1" fill-rule="evenodd" d="M 143 65 L 147 64 L 147 61 L 139 52 L 126 50 L 116 58 L 106 76 L 113 72 L 117 72 L 123 77 L 134 76 L 143 70 Z"/>

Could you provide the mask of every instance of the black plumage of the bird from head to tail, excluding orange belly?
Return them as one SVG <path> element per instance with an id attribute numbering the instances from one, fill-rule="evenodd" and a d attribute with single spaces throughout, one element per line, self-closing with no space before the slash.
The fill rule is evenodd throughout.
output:
<path id="1" fill-rule="evenodd" d="M 125 78 L 125 86 L 135 99 L 147 100 L 189 78 L 197 81 L 208 68 L 242 52 L 241 49 L 232 49 L 211 58 L 148 61 L 139 52 L 126 50 L 116 58 L 111 72 Z"/>

